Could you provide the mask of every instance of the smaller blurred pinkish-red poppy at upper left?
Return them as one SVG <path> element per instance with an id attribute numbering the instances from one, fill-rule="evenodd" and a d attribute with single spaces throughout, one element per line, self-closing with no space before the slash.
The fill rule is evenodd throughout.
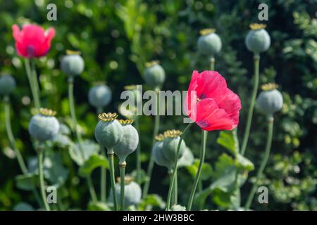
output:
<path id="1" fill-rule="evenodd" d="M 26 58 L 42 57 L 51 48 L 51 39 L 55 36 L 54 28 L 45 30 L 38 25 L 23 25 L 22 30 L 18 25 L 12 26 L 15 48 L 20 56 Z"/>

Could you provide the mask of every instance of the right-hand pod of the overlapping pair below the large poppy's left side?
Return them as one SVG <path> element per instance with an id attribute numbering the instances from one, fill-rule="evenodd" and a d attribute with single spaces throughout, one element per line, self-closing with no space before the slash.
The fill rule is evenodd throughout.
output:
<path id="1" fill-rule="evenodd" d="M 164 157 L 170 161 L 170 163 L 175 162 L 176 153 L 178 150 L 178 143 L 180 141 L 180 135 L 182 134 L 181 131 L 178 130 L 168 130 L 164 132 L 165 139 L 163 141 L 163 155 Z M 180 155 L 179 158 L 182 158 L 182 155 L 184 154 L 186 148 L 185 141 L 182 140 L 182 143 L 180 144 Z M 178 158 L 178 159 L 179 159 Z"/>

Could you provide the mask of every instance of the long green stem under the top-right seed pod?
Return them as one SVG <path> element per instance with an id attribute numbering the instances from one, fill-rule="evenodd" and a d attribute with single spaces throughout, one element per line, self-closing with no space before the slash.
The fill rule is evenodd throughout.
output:
<path id="1" fill-rule="evenodd" d="M 254 54 L 254 84 L 253 84 L 253 91 L 252 91 L 252 96 L 251 96 L 251 103 L 249 106 L 249 113 L 248 113 L 248 117 L 247 117 L 247 125 L 244 129 L 241 155 L 244 155 L 245 150 L 247 149 L 247 143 L 249 140 L 252 115 L 253 115 L 254 105 L 256 102 L 256 94 L 258 93 L 258 88 L 259 88 L 259 65 L 260 65 L 260 55 Z"/>

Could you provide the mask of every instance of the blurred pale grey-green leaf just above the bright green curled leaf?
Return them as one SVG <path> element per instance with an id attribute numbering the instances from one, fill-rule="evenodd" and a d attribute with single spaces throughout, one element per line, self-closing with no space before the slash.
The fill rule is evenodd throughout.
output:
<path id="1" fill-rule="evenodd" d="M 99 144 L 94 141 L 85 140 L 82 141 L 81 144 L 84 150 L 83 153 L 81 153 L 78 143 L 73 143 L 69 148 L 70 158 L 72 158 L 79 166 L 83 165 L 85 161 L 90 158 L 91 155 L 97 154 L 101 150 Z"/>

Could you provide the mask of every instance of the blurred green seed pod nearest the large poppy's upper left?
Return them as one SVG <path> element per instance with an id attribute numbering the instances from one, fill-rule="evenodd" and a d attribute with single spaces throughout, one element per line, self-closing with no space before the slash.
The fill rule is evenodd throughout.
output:
<path id="1" fill-rule="evenodd" d="M 144 80 L 147 85 L 154 89 L 160 88 L 165 81 L 165 71 L 158 61 L 147 63 L 147 68 L 144 70 Z"/>

